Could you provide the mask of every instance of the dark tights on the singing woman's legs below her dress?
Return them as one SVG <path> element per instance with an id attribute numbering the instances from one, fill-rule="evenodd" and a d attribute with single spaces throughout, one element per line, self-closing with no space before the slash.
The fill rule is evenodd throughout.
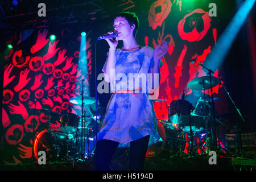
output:
<path id="1" fill-rule="evenodd" d="M 150 135 L 130 142 L 129 169 L 142 171 Z M 96 144 L 95 170 L 110 171 L 110 161 L 119 143 L 112 140 L 98 140 Z"/>

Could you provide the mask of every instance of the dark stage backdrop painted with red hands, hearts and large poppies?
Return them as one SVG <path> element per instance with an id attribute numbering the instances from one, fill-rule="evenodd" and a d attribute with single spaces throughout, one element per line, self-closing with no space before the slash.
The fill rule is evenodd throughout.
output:
<path id="1" fill-rule="evenodd" d="M 185 3 L 186 2 L 186 3 Z M 112 12 L 132 11 L 139 16 L 137 42 L 141 46 L 155 48 L 162 40 L 168 42 L 168 53 L 163 57 L 160 69 L 161 80 L 159 99 L 154 102 L 156 116 L 168 120 L 168 106 L 181 99 L 183 90 L 191 94 L 187 84 L 195 77 L 207 76 L 207 71 L 197 63 L 207 61 L 220 36 L 220 18 L 215 6 L 209 3 L 188 1 L 157 0 L 127 1 Z M 114 7 L 113 7 L 114 9 Z M 118 10 L 118 11 L 117 11 Z M 217 13 L 217 15 L 216 15 Z M 216 15 L 216 16 L 215 16 Z M 98 24 L 102 23 L 99 27 Z M 113 19 L 94 21 L 88 24 L 74 24 L 58 28 L 48 27 L 16 31 L 7 37 L 6 44 L 13 49 L 5 56 L 2 108 L 3 163 L 27 163 L 32 157 L 33 136 L 47 128 L 46 114 L 40 109 L 60 113 L 81 113 L 81 107 L 70 102 L 70 98 L 81 95 L 81 82 L 90 88 L 88 96 L 95 97 L 94 91 L 94 44 L 97 36 L 113 29 Z M 81 27 L 86 27 L 86 60 L 81 60 Z M 89 27 L 89 28 L 88 28 Z M 49 40 L 49 35 L 56 40 Z M 121 45 L 119 45 L 121 47 Z M 97 44 L 97 75 L 106 59 L 107 44 Z M 82 68 L 87 71 L 83 72 Z M 214 77 L 224 75 L 222 68 L 213 70 Z M 98 81 L 99 82 L 99 81 Z M 225 82 L 225 81 L 224 81 Z M 56 88 L 60 87 L 60 88 Z M 210 94 L 209 90 L 206 92 Z M 219 113 L 226 111 L 226 96 L 220 93 L 219 85 L 213 88 Z M 109 94 L 98 94 L 101 104 L 106 107 Z M 50 126 L 58 130 L 59 126 Z"/>

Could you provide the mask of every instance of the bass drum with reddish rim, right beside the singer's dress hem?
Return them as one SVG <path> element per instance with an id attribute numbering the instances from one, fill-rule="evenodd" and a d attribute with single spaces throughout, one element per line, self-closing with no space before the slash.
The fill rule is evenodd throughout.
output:
<path id="1" fill-rule="evenodd" d="M 170 156 L 176 154 L 182 154 L 185 149 L 185 135 L 183 131 L 177 130 L 170 125 L 162 125 L 159 121 L 157 123 L 158 126 L 158 134 L 162 141 L 152 144 L 147 148 L 146 157 L 152 158 L 154 156 L 166 156 L 170 158 Z M 163 154 L 163 155 L 162 155 Z"/>

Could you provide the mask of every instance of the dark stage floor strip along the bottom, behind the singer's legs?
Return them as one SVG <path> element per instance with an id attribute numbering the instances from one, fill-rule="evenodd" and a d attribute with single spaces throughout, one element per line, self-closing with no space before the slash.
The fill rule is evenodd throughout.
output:
<path id="1" fill-rule="evenodd" d="M 209 155 L 200 155 L 181 158 L 147 158 L 144 171 L 255 171 L 256 160 L 217 156 L 216 164 L 209 164 Z M 113 159 L 113 171 L 128 171 L 128 159 Z M 30 164 L 1 165 L 1 171 L 93 171 L 94 159 L 70 162 L 52 162 L 39 165 Z"/>

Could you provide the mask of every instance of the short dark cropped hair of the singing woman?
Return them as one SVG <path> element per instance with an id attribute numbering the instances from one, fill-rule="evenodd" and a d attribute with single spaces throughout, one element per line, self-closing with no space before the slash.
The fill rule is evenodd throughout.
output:
<path id="1" fill-rule="evenodd" d="M 134 31 L 133 31 L 133 35 L 134 35 L 134 38 L 135 38 L 136 34 L 137 34 L 137 30 L 139 28 L 139 18 L 138 18 L 138 16 L 135 13 L 131 13 L 129 11 L 126 11 L 126 12 L 121 12 L 121 13 L 118 13 L 117 15 L 115 15 L 115 18 L 117 18 L 117 17 L 125 18 L 127 20 L 127 22 L 130 24 L 130 26 L 132 26 L 133 24 L 135 25 L 135 28 L 134 28 Z"/>

